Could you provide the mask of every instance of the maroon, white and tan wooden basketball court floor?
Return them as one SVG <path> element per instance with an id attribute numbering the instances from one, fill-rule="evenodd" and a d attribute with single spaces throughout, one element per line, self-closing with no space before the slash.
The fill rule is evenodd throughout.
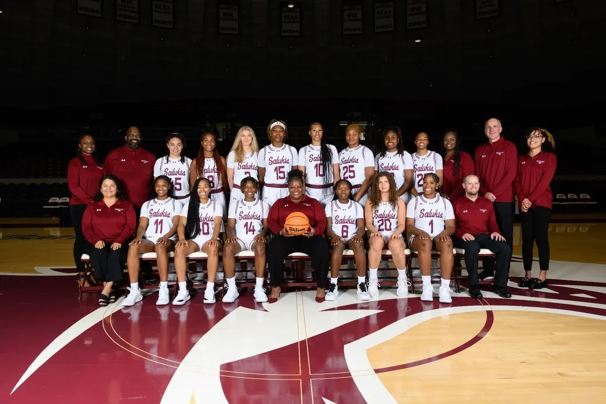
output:
<path id="1" fill-rule="evenodd" d="M 0 403 L 606 403 L 606 223 L 553 223 L 550 286 L 511 299 L 122 308 L 78 300 L 73 230 L 0 224 Z M 538 263 L 535 263 L 538 274 Z M 436 292 L 438 285 L 435 285 Z"/>

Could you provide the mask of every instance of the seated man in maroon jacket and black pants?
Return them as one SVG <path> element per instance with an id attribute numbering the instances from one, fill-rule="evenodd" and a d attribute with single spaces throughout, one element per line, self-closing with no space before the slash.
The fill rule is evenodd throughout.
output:
<path id="1" fill-rule="evenodd" d="M 465 267 L 469 274 L 469 294 L 482 299 L 478 288 L 478 254 L 481 248 L 487 248 L 496 257 L 494 293 L 501 297 L 511 297 L 507 291 L 511 247 L 501 233 L 494 217 L 490 200 L 478 196 L 480 182 L 478 176 L 469 174 L 463 179 L 465 196 L 453 201 L 456 228 L 453 234 L 454 248 L 465 250 Z"/>

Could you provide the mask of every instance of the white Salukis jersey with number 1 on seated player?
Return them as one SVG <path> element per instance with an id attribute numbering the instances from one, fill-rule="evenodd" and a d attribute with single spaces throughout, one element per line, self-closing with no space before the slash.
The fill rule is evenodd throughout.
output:
<path id="1" fill-rule="evenodd" d="M 439 194 L 434 199 L 419 195 L 408 202 L 406 217 L 414 218 L 415 227 L 433 239 L 446 228 L 445 220 L 454 219 L 453 205 Z"/>

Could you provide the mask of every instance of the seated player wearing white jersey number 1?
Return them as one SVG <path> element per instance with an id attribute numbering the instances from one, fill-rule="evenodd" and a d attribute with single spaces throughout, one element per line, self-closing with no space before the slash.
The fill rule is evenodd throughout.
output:
<path id="1" fill-rule="evenodd" d="M 450 303 L 450 274 L 453 270 L 453 242 L 450 235 L 454 233 L 454 212 L 450 200 L 444 199 L 436 188 L 439 184 L 438 175 L 425 174 L 422 194 L 413 197 L 408 202 L 406 210 L 406 228 L 410 233 L 408 245 L 413 251 L 418 251 L 417 259 L 423 279 L 421 300 L 433 300 L 431 286 L 431 250 L 440 253 L 440 270 L 442 284 L 440 286 L 440 302 Z"/>

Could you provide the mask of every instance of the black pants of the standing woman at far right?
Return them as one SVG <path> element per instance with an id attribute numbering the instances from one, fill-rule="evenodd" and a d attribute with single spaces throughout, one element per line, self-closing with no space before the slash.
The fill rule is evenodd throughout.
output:
<path id="1" fill-rule="evenodd" d="M 522 261 L 524 271 L 532 270 L 532 256 L 534 242 L 539 250 L 539 268 L 541 271 L 549 269 L 549 220 L 551 209 L 537 206 L 528 209 L 527 212 L 520 211 L 522 223 Z"/>

